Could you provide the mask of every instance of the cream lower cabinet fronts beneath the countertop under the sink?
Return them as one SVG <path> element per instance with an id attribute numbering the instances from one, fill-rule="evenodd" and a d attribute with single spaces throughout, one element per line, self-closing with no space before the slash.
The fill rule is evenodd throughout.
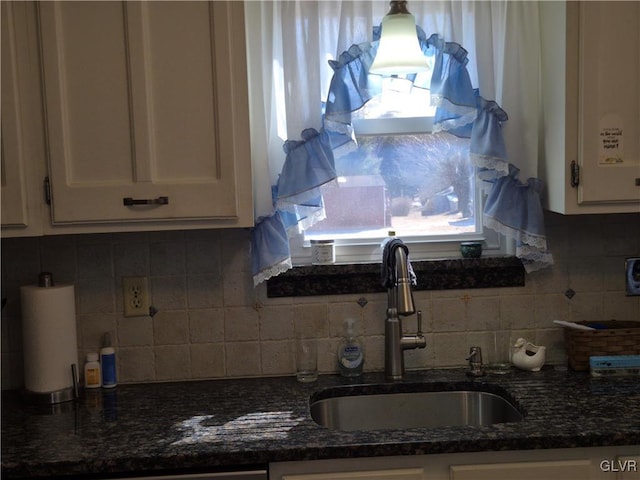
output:
<path id="1" fill-rule="evenodd" d="M 640 446 L 282 462 L 270 480 L 640 480 Z"/>

